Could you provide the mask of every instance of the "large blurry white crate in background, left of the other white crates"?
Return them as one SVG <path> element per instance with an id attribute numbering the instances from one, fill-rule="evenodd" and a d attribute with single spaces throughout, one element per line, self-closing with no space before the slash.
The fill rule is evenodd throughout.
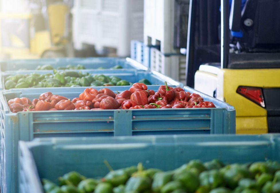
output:
<path id="1" fill-rule="evenodd" d="M 144 0 L 74 0 L 73 41 L 130 55 L 130 41 L 143 39 Z"/>

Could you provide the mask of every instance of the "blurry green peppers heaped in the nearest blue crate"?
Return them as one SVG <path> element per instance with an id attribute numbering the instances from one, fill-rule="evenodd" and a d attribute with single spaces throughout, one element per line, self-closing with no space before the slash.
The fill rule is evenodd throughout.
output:
<path id="1" fill-rule="evenodd" d="M 77 172 L 59 177 L 59 185 L 42 179 L 46 193 L 279 193 L 280 164 L 275 161 L 224 165 L 215 159 L 191 160 L 172 170 L 144 169 L 142 164 L 111 170 L 104 178 Z"/>

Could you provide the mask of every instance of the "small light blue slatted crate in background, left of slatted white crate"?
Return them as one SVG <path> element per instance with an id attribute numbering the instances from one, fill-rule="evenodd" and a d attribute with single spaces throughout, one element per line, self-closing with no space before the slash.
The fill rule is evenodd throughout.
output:
<path id="1" fill-rule="evenodd" d="M 151 48 L 155 47 L 160 49 L 159 45 L 144 45 L 143 41 L 132 40 L 131 41 L 131 58 L 137 62 L 143 64 L 144 66 L 150 68 L 150 58 L 151 58 Z"/>

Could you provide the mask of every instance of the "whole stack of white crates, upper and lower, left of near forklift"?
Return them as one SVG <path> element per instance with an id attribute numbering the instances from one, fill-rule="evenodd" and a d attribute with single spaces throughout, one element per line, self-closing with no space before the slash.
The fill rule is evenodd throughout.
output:
<path id="1" fill-rule="evenodd" d="M 176 1 L 144 1 L 144 45 L 160 45 L 160 50 L 151 48 L 151 70 L 185 84 L 186 56 L 180 54 L 180 49 L 174 49 Z"/>

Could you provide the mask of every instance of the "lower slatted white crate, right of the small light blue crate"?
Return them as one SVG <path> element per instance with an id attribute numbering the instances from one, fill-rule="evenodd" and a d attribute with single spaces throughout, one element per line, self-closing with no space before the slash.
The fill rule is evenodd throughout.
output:
<path id="1" fill-rule="evenodd" d="M 151 70 L 167 75 L 186 85 L 186 55 L 164 55 L 151 48 Z"/>

